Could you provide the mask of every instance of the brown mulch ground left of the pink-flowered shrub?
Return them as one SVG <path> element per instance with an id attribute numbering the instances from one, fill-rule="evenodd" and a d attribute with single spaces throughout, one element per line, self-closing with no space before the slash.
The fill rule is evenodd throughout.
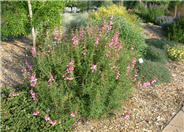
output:
<path id="1" fill-rule="evenodd" d="M 31 63 L 31 40 L 22 38 L 1 43 L 0 86 L 16 86 L 23 83 L 21 68 L 27 59 Z"/>

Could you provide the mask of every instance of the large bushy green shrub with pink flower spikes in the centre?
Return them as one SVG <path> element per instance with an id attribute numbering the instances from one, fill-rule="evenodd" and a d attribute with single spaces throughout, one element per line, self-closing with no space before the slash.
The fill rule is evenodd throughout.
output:
<path id="1" fill-rule="evenodd" d="M 34 71 L 27 66 L 32 71 L 26 73 L 30 97 L 48 124 L 63 127 L 78 117 L 103 118 L 128 96 L 134 47 L 119 40 L 112 21 L 113 16 L 100 27 L 88 24 L 71 37 L 40 48 Z"/>

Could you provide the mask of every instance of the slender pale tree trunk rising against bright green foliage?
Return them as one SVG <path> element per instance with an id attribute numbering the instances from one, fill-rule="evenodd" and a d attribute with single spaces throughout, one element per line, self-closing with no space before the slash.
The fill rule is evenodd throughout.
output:
<path id="1" fill-rule="evenodd" d="M 28 0 L 28 8 L 29 8 L 29 17 L 30 20 L 32 22 L 32 8 L 31 8 L 31 0 Z M 35 31 L 34 31 L 34 26 L 31 24 L 32 26 L 32 37 L 33 37 L 33 47 L 36 48 L 36 35 L 35 35 Z M 36 52 L 36 50 L 35 50 Z"/>

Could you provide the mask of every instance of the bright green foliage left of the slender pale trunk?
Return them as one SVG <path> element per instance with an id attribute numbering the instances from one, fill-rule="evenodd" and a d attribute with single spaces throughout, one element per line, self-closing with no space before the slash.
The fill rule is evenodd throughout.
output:
<path id="1" fill-rule="evenodd" d="M 1 2 L 2 40 L 31 32 L 26 2 Z M 26 7 L 26 8 L 25 8 Z"/>

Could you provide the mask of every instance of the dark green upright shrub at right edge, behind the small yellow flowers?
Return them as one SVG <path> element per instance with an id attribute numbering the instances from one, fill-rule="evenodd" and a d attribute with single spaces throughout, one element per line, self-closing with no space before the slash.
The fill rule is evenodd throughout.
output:
<path id="1" fill-rule="evenodd" d="M 169 40 L 184 42 L 184 17 L 174 19 L 174 22 L 164 27 Z"/>

